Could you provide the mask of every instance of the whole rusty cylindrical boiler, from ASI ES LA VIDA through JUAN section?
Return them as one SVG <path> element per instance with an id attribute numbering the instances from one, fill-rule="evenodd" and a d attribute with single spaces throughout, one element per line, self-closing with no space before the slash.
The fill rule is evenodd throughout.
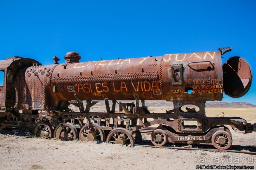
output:
<path id="1" fill-rule="evenodd" d="M 78 62 L 54 68 L 57 100 L 222 100 L 220 51 Z"/>

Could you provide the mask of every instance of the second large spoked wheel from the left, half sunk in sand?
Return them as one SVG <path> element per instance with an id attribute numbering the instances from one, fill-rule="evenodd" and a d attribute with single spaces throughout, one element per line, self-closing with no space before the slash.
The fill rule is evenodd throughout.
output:
<path id="1" fill-rule="evenodd" d="M 73 141 L 78 137 L 75 126 L 71 123 L 61 123 L 54 131 L 54 138 Z"/>

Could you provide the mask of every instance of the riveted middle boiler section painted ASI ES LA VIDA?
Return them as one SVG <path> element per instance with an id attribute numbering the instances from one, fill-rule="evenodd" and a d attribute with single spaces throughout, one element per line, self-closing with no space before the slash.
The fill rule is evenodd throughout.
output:
<path id="1" fill-rule="evenodd" d="M 156 60 L 155 60 L 156 58 Z M 159 82 L 161 57 L 100 60 L 61 64 L 51 85 L 59 100 L 162 100 Z"/>

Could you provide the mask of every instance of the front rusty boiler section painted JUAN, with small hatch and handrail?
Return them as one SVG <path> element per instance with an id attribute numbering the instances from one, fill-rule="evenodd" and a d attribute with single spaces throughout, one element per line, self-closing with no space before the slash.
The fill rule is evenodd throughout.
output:
<path id="1" fill-rule="evenodd" d="M 164 99 L 222 100 L 221 67 L 220 51 L 164 55 L 160 70 Z"/>

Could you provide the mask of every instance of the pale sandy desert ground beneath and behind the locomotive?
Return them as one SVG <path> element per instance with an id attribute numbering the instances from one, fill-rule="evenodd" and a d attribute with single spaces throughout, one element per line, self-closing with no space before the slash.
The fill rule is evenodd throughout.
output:
<path id="1" fill-rule="evenodd" d="M 208 117 L 223 116 L 222 112 L 224 116 L 239 116 L 249 123 L 256 122 L 256 108 L 206 108 Z M 231 132 L 233 145 L 251 146 L 250 150 L 256 151 L 256 132 Z M 143 135 L 143 139 L 149 138 Z M 172 146 L 172 143 L 168 143 L 167 146 Z M 62 141 L 32 137 L 29 132 L 18 130 L 0 131 L 0 169 L 196 169 L 198 165 L 256 167 L 256 156 L 126 147 L 95 141 Z"/>

